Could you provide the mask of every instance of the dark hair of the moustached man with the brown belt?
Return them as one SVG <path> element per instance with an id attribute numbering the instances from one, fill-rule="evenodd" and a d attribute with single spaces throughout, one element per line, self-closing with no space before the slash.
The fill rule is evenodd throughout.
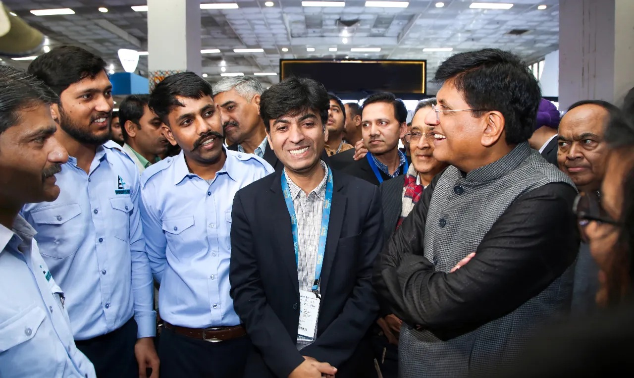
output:
<path id="1" fill-rule="evenodd" d="M 183 104 L 176 100 L 176 96 L 200 100 L 204 96 L 214 96 L 211 84 L 193 72 L 179 72 L 165 79 L 155 86 L 150 94 L 150 109 L 167 126 L 167 116 L 174 107 L 182 107 Z M 121 109 L 119 108 L 119 112 Z"/>

